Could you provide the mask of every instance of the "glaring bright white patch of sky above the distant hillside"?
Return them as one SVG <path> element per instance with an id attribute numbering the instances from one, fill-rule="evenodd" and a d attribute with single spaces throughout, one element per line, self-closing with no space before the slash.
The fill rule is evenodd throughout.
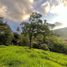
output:
<path id="1" fill-rule="evenodd" d="M 65 6 L 64 3 L 60 3 L 50 12 L 57 15 L 54 19 L 52 19 L 52 22 L 62 23 L 62 25 L 59 27 L 56 27 L 56 29 L 67 27 L 67 6 Z"/>

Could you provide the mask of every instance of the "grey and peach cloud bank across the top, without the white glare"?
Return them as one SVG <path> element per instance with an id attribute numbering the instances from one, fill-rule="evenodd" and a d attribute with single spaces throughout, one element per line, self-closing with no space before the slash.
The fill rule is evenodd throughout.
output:
<path id="1" fill-rule="evenodd" d="M 61 0 L 0 0 L 0 16 L 22 21 L 33 11 L 46 15 L 60 2 Z"/>

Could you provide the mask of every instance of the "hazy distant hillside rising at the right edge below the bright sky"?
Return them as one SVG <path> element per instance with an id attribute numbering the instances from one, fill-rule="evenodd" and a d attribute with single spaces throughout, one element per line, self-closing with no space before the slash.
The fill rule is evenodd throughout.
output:
<path id="1" fill-rule="evenodd" d="M 62 37 L 63 39 L 67 39 L 67 27 L 55 29 L 54 33 Z"/>

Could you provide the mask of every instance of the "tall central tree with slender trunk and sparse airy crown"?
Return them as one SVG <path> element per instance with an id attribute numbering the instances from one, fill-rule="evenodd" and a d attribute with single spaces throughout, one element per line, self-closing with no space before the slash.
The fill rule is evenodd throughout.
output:
<path id="1" fill-rule="evenodd" d="M 46 22 L 41 19 L 42 15 L 33 12 L 29 18 L 29 22 L 22 23 L 22 33 L 28 35 L 30 41 L 30 48 L 32 47 L 32 38 L 39 34 L 46 35 L 49 32 L 49 28 Z"/>

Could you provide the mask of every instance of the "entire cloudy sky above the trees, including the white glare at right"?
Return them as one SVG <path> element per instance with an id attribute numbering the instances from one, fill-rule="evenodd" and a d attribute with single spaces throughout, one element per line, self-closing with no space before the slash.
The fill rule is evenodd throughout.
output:
<path id="1" fill-rule="evenodd" d="M 33 12 L 39 12 L 49 23 L 60 22 L 67 27 L 67 0 L 0 0 L 0 16 L 22 22 Z"/>

